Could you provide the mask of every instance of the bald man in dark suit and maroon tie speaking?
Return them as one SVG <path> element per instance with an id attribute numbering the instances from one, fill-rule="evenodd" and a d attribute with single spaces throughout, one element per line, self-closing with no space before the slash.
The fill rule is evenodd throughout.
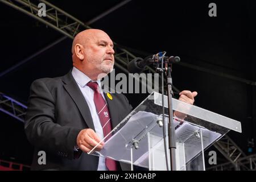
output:
<path id="1" fill-rule="evenodd" d="M 24 125 L 35 146 L 31 169 L 121 170 L 119 162 L 86 154 L 132 110 L 123 94 L 101 90 L 102 75 L 113 70 L 113 42 L 102 30 L 82 31 L 73 40 L 72 60 L 67 75 L 32 82 Z M 193 104 L 196 95 L 184 90 L 179 100 Z M 38 163 L 39 151 L 46 152 L 46 164 Z"/>

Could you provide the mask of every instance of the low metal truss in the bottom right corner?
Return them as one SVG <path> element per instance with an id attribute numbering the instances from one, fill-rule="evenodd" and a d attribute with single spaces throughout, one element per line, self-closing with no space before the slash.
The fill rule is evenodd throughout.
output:
<path id="1" fill-rule="evenodd" d="M 210 167 L 207 170 L 208 171 L 256 171 L 256 154 L 237 159 L 235 164 L 236 164 L 235 166 L 231 162 L 219 164 L 214 167 Z"/>

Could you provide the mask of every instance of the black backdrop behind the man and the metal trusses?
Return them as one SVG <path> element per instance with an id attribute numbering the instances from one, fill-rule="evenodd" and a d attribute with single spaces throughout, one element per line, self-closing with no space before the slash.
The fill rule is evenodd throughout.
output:
<path id="1" fill-rule="evenodd" d="M 48 2 L 88 22 L 121 1 Z M 208 15 L 211 2 L 217 5 L 217 17 Z M 134 0 L 90 26 L 104 30 L 136 56 L 167 51 L 168 56 L 180 56 L 182 63 L 193 65 L 174 65 L 174 86 L 196 90 L 197 106 L 240 121 L 242 134 L 230 131 L 229 136 L 249 155 L 247 141 L 255 138 L 256 129 L 256 90 L 255 85 L 239 79 L 256 81 L 255 12 L 255 1 Z M 63 37 L 1 2 L 0 28 L 0 73 Z M 71 46 L 67 38 L 0 77 L 0 92 L 26 105 L 32 81 L 61 76 L 72 68 Z M 145 97 L 126 96 L 134 107 Z M 32 159 L 23 123 L 4 113 L 0 113 L 0 159 L 24 164 Z"/>

